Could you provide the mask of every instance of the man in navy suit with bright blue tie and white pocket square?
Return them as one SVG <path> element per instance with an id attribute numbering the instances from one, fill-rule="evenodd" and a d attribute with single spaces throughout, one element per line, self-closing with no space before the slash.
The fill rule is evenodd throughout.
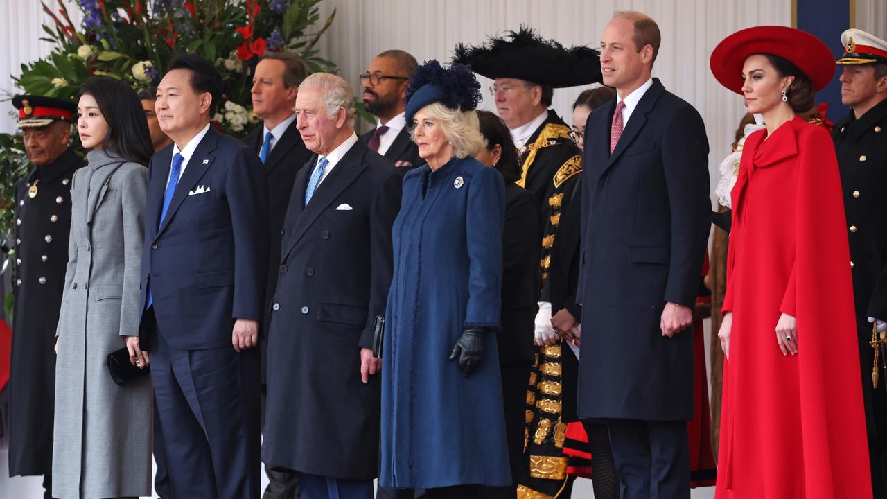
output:
<path id="1" fill-rule="evenodd" d="M 208 60 L 180 55 L 157 90 L 173 144 L 149 165 L 139 336 L 175 497 L 259 495 L 268 187 L 255 152 L 209 124 L 221 81 Z"/>

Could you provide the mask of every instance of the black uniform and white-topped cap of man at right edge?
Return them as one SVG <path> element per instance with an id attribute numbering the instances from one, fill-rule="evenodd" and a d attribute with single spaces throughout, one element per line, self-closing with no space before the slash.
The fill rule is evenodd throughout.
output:
<path id="1" fill-rule="evenodd" d="M 867 40 L 871 38 L 864 32 L 849 29 L 843 38 L 847 53 L 838 64 L 871 64 L 878 60 L 871 49 L 862 48 L 863 44 L 870 44 Z M 887 51 L 883 53 L 887 56 Z M 880 62 L 887 64 L 887 57 Z M 846 234 L 850 241 L 873 489 L 875 497 L 883 497 L 887 492 L 887 372 L 881 368 L 883 360 L 875 360 L 868 317 L 887 320 L 887 217 L 883 208 L 887 190 L 887 99 L 859 118 L 851 111 L 836 124 L 832 139 L 841 171 Z M 877 348 L 879 357 L 887 352 L 883 345 Z M 873 371 L 880 371 L 876 385 Z"/>

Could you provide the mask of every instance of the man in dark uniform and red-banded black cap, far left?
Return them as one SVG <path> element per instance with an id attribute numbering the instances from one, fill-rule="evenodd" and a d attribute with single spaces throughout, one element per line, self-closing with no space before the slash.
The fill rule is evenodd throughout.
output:
<path id="1" fill-rule="evenodd" d="M 50 497 L 53 347 L 67 266 L 71 178 L 83 162 L 68 147 L 73 103 L 20 95 L 12 105 L 36 168 L 15 186 L 9 474 L 43 475 Z"/>

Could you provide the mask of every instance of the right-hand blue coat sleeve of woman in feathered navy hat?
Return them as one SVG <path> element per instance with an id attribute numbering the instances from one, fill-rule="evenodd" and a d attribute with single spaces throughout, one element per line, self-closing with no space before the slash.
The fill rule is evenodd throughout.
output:
<path id="1" fill-rule="evenodd" d="M 497 170 L 483 168 L 475 172 L 467 187 L 468 305 L 463 326 L 498 329 L 505 180 Z"/>

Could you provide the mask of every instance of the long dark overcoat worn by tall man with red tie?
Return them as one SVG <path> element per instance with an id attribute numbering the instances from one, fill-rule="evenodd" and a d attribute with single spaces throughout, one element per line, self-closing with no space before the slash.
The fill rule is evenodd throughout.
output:
<path id="1" fill-rule="evenodd" d="M 693 335 L 663 337 L 666 302 L 693 307 L 710 228 L 703 120 L 654 79 L 609 154 L 616 99 L 586 123 L 578 416 L 693 418 Z"/>

